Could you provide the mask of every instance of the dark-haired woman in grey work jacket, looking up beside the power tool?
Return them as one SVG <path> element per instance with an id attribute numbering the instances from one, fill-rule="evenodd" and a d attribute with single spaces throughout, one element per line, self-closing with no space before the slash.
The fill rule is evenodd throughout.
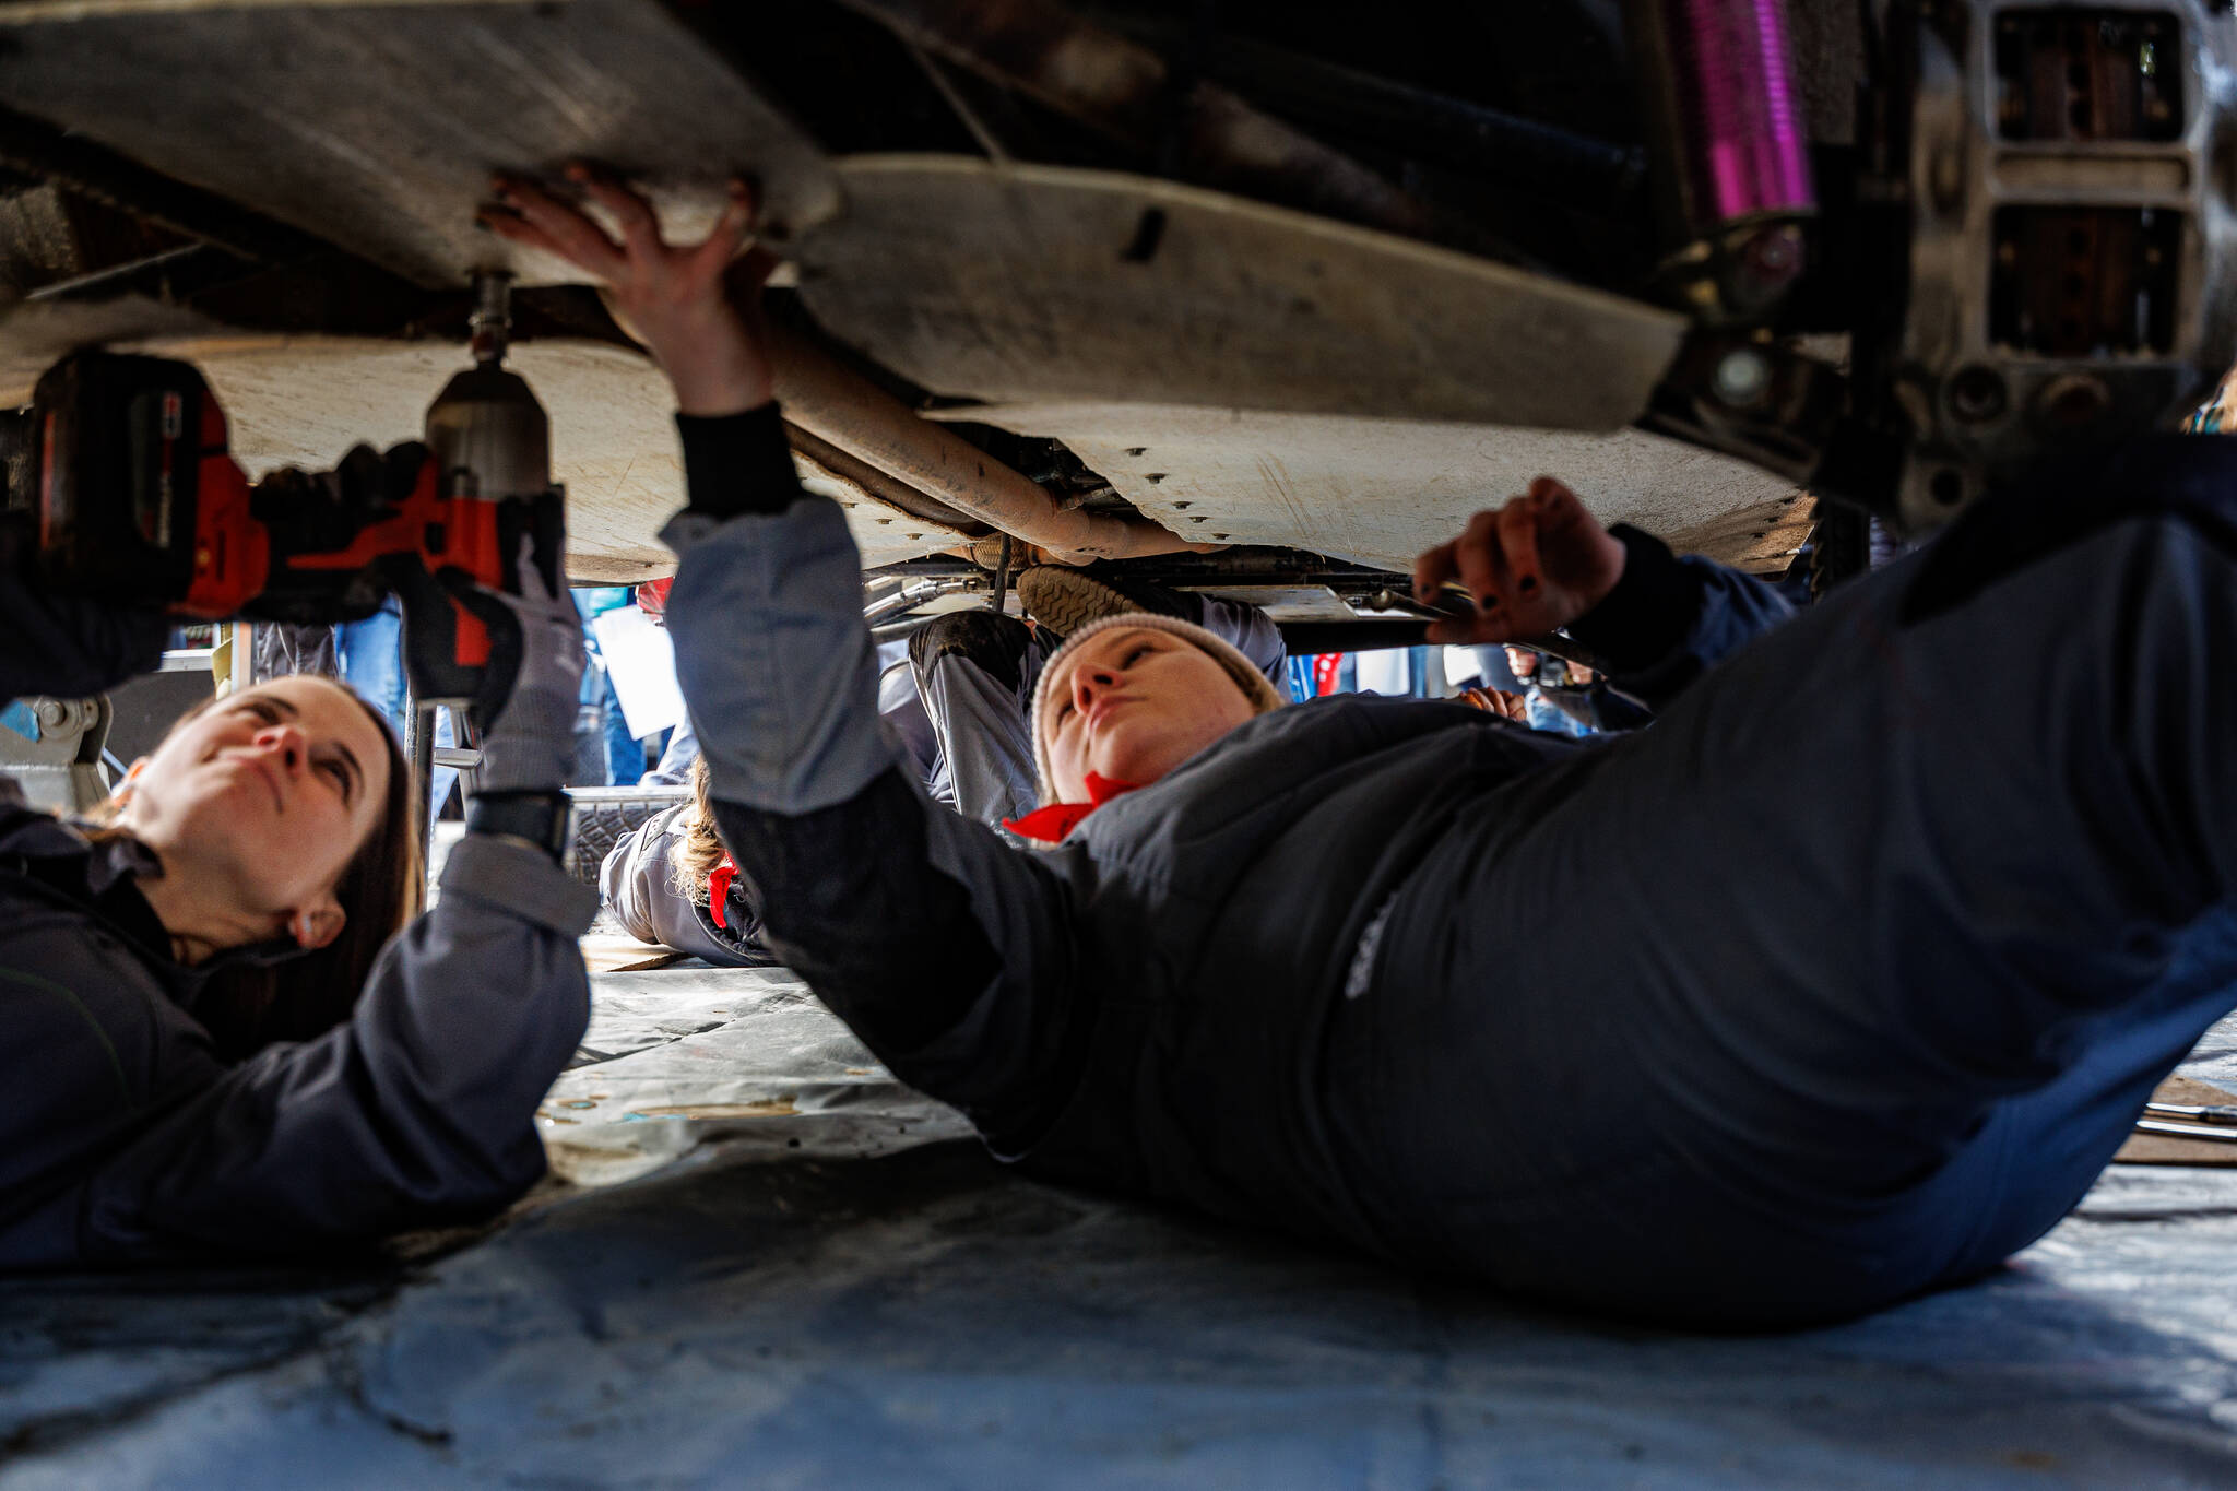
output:
<path id="1" fill-rule="evenodd" d="M 154 666 L 163 617 L 43 595 L 7 543 L 0 697 Z M 582 639 L 521 572 L 530 595 L 488 599 L 523 662 L 416 919 L 405 760 L 340 684 L 195 709 L 98 823 L 0 778 L 0 1267 L 333 1247 L 485 1216 L 544 1171 L 595 899 L 553 849 Z"/>

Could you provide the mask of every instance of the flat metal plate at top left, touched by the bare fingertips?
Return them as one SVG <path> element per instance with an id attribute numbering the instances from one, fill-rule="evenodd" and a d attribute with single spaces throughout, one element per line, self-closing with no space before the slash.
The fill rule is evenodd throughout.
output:
<path id="1" fill-rule="evenodd" d="M 586 156 L 705 232 L 738 170 L 772 237 L 837 206 L 814 145 L 655 0 L 0 7 L 0 101 L 425 286 L 512 268 L 492 170 Z"/>

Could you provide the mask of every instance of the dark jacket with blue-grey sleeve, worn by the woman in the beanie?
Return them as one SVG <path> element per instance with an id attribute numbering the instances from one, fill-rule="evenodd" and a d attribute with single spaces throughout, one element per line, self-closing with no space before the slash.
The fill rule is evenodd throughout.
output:
<path id="1" fill-rule="evenodd" d="M 1380 1247 L 1322 1133 L 1322 1033 L 1459 807 L 1602 751 L 1463 704 L 1315 700 L 1016 849 L 933 807 L 879 738 L 859 557 L 774 407 L 682 431 L 669 633 L 770 950 L 1040 1174 Z M 1624 581 L 1570 630 L 1649 704 L 1790 615 L 1617 534 Z"/>

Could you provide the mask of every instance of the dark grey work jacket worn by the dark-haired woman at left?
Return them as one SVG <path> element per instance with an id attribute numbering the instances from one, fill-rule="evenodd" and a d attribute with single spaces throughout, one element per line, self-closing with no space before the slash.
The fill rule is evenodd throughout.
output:
<path id="1" fill-rule="evenodd" d="M 166 630 L 0 563 L 0 697 L 98 693 Z M 597 910 L 548 854 L 470 834 L 347 1024 L 235 1064 L 148 874 L 0 778 L 0 1267 L 333 1247 L 488 1216 L 544 1174 L 532 1115 L 588 1019 Z"/>

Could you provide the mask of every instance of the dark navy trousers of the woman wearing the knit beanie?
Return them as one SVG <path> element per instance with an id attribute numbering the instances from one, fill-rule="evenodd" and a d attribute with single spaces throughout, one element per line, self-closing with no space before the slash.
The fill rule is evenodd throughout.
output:
<path id="1" fill-rule="evenodd" d="M 1389 1250 L 1801 1326 L 2056 1225 L 2237 1006 L 2228 449 L 2219 523 L 2116 521 L 1939 608 L 1908 557 L 1485 794 L 1329 1042 Z"/>

